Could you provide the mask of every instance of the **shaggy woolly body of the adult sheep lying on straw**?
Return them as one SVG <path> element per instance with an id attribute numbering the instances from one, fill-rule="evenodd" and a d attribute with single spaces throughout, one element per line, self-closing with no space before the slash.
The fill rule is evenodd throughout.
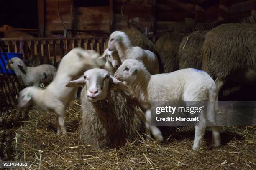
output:
<path id="1" fill-rule="evenodd" d="M 81 92 L 80 138 L 96 148 L 118 147 L 138 138 L 144 129 L 145 117 L 138 102 L 122 90 L 110 89 L 106 100 L 93 103 L 87 100 L 86 87 Z"/>

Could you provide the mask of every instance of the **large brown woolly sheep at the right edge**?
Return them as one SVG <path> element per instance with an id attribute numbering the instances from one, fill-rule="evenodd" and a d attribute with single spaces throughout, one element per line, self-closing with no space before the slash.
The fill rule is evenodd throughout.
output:
<path id="1" fill-rule="evenodd" d="M 256 85 L 256 24 L 222 24 L 210 30 L 202 46 L 202 70 L 218 93 L 228 80 Z"/>

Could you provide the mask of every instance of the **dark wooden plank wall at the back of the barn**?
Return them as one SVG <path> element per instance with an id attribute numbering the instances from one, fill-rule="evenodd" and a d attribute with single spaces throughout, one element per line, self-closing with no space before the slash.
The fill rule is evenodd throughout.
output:
<path id="1" fill-rule="evenodd" d="M 102 7 L 77 7 L 77 29 L 88 31 L 120 30 L 128 28 L 121 15 L 126 0 L 110 0 Z M 70 27 L 71 0 L 60 0 L 59 12 L 64 23 Z M 152 4 L 156 2 L 154 8 Z M 218 20 L 237 20 L 254 14 L 255 0 L 130 0 L 123 8 L 123 14 L 141 30 L 153 26 L 155 15 L 157 30 L 172 30 L 190 27 L 194 24 L 212 23 Z M 46 0 L 46 36 L 53 30 L 64 30 L 56 13 L 57 0 Z M 155 13 L 154 13 L 155 9 Z M 113 23 L 110 28 L 110 23 Z M 115 29 L 114 29 L 114 28 Z M 82 33 L 88 36 L 88 33 Z"/>

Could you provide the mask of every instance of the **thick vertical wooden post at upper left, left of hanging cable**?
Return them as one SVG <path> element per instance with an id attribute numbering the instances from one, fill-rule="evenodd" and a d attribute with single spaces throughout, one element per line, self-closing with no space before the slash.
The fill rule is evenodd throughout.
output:
<path id="1" fill-rule="evenodd" d="M 37 0 L 38 37 L 45 37 L 45 0 Z"/>

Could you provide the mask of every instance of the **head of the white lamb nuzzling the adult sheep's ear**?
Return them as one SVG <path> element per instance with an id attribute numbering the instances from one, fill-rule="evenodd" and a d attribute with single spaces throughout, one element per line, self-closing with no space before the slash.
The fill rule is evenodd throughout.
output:
<path id="1" fill-rule="evenodd" d="M 142 62 L 135 59 L 127 59 L 122 65 L 116 70 L 114 77 L 120 81 L 133 82 L 138 77 L 141 69 L 144 68 Z"/>

